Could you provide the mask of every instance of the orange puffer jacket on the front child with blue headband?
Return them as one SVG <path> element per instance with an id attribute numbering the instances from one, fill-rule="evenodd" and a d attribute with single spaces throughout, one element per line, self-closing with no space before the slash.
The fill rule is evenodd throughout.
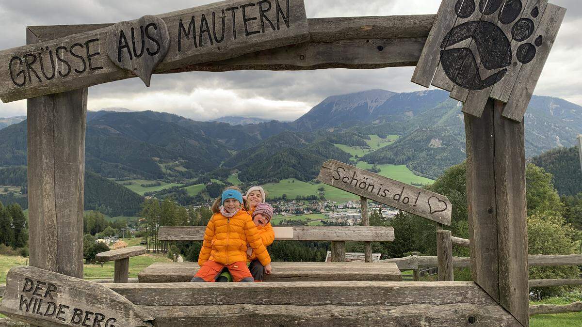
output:
<path id="1" fill-rule="evenodd" d="M 246 261 L 247 243 L 253 248 L 262 265 L 271 263 L 271 257 L 262 244 L 257 226 L 246 211 L 240 210 L 231 218 L 226 218 L 220 213 L 214 214 L 204 232 L 198 265 L 202 266 L 208 260 L 223 265 Z"/>

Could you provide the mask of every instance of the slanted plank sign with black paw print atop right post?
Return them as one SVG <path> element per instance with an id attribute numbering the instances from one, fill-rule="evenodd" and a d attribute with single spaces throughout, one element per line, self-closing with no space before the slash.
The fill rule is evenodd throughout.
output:
<path id="1" fill-rule="evenodd" d="M 412 77 L 480 117 L 489 98 L 521 122 L 566 9 L 548 0 L 443 0 Z"/>

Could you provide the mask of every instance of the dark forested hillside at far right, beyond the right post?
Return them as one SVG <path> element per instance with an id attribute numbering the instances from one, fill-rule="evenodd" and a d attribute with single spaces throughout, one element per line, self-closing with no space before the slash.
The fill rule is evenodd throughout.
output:
<path id="1" fill-rule="evenodd" d="M 553 184 L 560 196 L 574 196 L 582 192 L 578 147 L 546 151 L 532 158 L 531 162 L 553 175 Z"/>

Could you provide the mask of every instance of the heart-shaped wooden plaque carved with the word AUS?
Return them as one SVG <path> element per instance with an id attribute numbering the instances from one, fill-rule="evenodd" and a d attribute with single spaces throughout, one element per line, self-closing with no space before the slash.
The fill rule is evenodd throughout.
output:
<path id="1" fill-rule="evenodd" d="M 149 87 L 152 72 L 168 53 L 170 34 L 164 20 L 147 15 L 113 25 L 106 44 L 109 59 Z"/>

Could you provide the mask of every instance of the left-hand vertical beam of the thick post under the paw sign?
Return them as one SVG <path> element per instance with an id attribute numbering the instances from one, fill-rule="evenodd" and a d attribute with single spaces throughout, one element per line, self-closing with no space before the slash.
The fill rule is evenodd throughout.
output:
<path id="1" fill-rule="evenodd" d="M 471 239 L 471 277 L 499 301 L 493 101 L 481 116 L 465 114 L 467 214 Z"/>

